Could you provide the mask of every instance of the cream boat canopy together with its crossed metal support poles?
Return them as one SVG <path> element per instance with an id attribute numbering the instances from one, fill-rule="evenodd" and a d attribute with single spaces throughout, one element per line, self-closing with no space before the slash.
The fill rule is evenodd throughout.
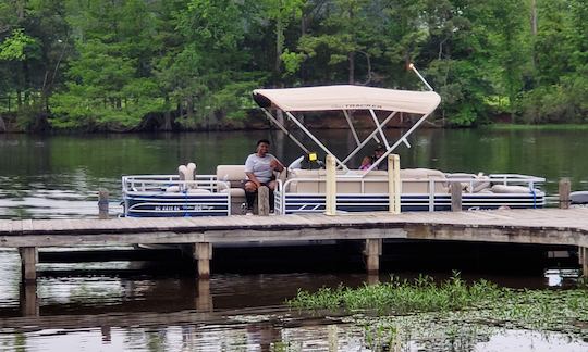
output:
<path id="1" fill-rule="evenodd" d="M 430 87 L 430 86 L 429 86 Z M 357 154 L 371 139 L 379 141 L 377 135 L 380 136 L 384 154 L 373 162 L 367 172 L 373 169 L 396 149 L 400 143 L 405 143 L 408 148 L 411 144 L 406 138 L 429 116 L 441 102 L 441 97 L 434 91 L 411 91 L 395 90 L 384 88 L 372 88 L 363 86 L 321 86 L 321 87 L 303 87 L 303 88 L 284 88 L 284 89 L 256 89 L 254 90 L 254 100 L 261 106 L 270 121 L 282 129 L 298 147 L 305 152 L 308 149 L 299 142 L 290 131 L 281 124 L 271 113 L 270 110 L 282 110 L 287 118 L 296 124 L 315 143 L 319 146 L 326 153 L 333 154 L 320 140 L 318 140 L 293 113 L 309 112 L 309 111 L 336 111 L 342 110 L 345 118 L 353 133 L 356 147 L 344 159 L 335 160 L 339 167 L 348 169 L 345 163 Z M 359 140 L 355 127 L 350 117 L 350 111 L 367 110 L 375 123 L 375 129 L 364 140 Z M 376 111 L 388 111 L 390 114 L 379 122 Z M 387 124 L 399 113 L 418 114 L 421 117 L 396 141 L 390 142 L 383 133 Z"/>

